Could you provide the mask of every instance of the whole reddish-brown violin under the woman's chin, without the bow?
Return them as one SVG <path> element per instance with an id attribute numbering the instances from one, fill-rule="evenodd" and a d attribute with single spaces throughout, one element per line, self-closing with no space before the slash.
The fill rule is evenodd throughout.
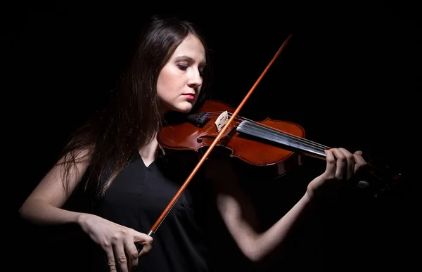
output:
<path id="1" fill-rule="evenodd" d="M 197 112 L 188 115 L 185 122 L 167 124 L 158 134 L 158 143 L 166 153 L 182 151 L 200 153 L 212 145 L 234 108 L 221 101 L 205 101 Z M 275 179 L 303 164 L 303 157 L 325 160 L 327 145 L 305 138 L 300 124 L 266 118 L 254 121 L 239 115 L 234 118 L 215 146 L 228 150 L 229 157 L 248 164 L 248 173 L 261 178 Z M 367 175 L 364 175 L 367 174 Z M 390 166 L 379 167 L 369 161 L 366 173 L 357 183 L 360 188 L 373 188 L 374 197 L 381 197 L 402 182 L 404 176 L 395 173 Z"/>

